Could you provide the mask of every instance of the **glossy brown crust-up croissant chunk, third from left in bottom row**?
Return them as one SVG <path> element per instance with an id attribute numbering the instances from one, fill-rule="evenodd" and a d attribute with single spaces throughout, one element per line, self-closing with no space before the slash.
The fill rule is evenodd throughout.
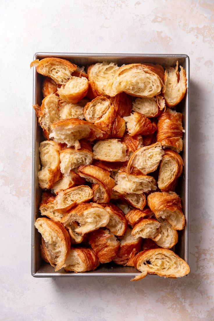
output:
<path id="1" fill-rule="evenodd" d="M 108 263 L 114 259 L 120 243 L 109 230 L 96 230 L 89 235 L 89 244 L 100 263 Z"/>

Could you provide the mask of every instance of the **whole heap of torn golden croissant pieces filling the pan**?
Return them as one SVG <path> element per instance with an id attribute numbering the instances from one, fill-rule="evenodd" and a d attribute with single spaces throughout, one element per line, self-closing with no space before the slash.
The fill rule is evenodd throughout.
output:
<path id="1" fill-rule="evenodd" d="M 185 95 L 185 70 L 103 62 L 86 73 L 59 58 L 31 66 L 45 76 L 44 99 L 33 106 L 46 138 L 35 223 L 42 258 L 75 273 L 110 261 L 134 266 L 133 280 L 188 274 L 170 250 L 185 225 L 174 192 L 184 130 L 172 109 Z"/>

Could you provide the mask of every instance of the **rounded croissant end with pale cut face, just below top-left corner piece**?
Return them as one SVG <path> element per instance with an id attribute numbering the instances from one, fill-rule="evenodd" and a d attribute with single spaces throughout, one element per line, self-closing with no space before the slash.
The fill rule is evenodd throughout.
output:
<path id="1" fill-rule="evenodd" d="M 86 96 L 88 88 L 89 82 L 87 78 L 72 76 L 64 85 L 58 88 L 57 93 L 62 100 L 75 104 Z"/>

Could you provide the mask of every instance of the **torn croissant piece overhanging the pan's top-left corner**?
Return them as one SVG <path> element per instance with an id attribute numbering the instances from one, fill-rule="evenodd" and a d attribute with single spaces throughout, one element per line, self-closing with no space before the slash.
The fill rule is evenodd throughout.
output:
<path id="1" fill-rule="evenodd" d="M 57 84 L 65 84 L 72 77 L 72 73 L 77 69 L 77 66 L 70 61 L 61 58 L 44 58 L 40 61 L 34 60 L 30 67 L 36 66 L 39 74 L 52 78 Z"/>

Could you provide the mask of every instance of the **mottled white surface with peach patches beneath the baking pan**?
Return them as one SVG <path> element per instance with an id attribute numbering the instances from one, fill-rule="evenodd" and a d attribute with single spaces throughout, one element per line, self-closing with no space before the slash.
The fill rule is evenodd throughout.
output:
<path id="1" fill-rule="evenodd" d="M 0 320 L 213 320 L 214 2 L 1 0 Z M 33 54 L 181 53 L 191 61 L 188 277 L 30 275 Z"/>

